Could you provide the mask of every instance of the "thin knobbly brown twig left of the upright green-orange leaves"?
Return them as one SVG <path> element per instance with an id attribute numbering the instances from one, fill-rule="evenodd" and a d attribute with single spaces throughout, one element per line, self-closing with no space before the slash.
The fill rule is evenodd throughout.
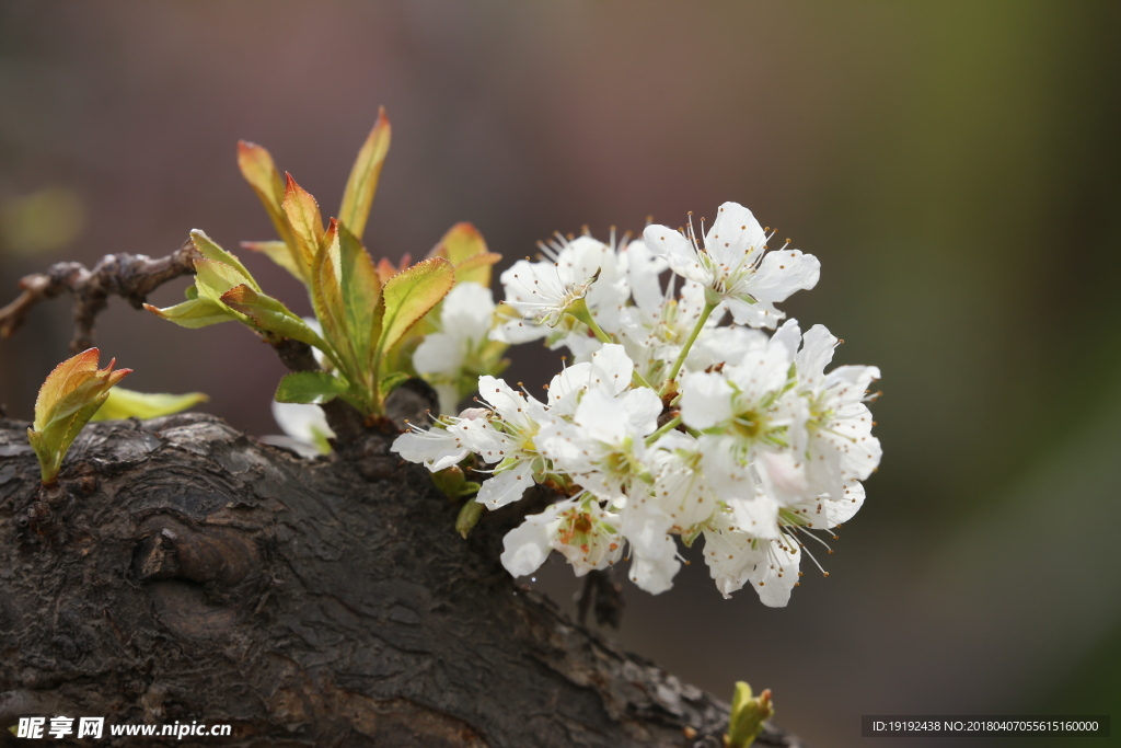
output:
<path id="1" fill-rule="evenodd" d="M 87 269 L 80 262 L 56 262 L 46 273 L 26 276 L 19 281 L 24 292 L 0 310 L 0 336 L 8 338 L 24 324 L 33 306 L 64 293 L 74 297 L 74 338 L 71 352 L 78 353 L 93 345 L 93 326 L 98 315 L 109 305 L 110 296 L 120 296 L 136 308 L 142 308 L 148 294 L 180 276 L 194 275 L 194 260 L 200 257 L 189 241 L 177 250 L 151 259 L 145 255 L 106 255 Z"/>

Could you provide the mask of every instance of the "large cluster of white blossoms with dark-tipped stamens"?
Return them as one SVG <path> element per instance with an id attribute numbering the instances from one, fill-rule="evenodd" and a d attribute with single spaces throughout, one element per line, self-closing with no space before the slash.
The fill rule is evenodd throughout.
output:
<path id="1" fill-rule="evenodd" d="M 475 501 L 489 509 L 534 483 L 562 496 L 507 535 L 513 575 L 552 551 L 577 575 L 628 558 L 631 580 L 659 593 L 680 567 L 674 536 L 686 546 L 703 536 L 725 597 L 750 584 L 785 606 L 802 556 L 813 558 L 807 539 L 827 548 L 815 533 L 832 535 L 864 500 L 861 481 L 880 460 L 865 405 L 879 370 L 826 372 L 837 339 L 782 321 L 775 305 L 813 288 L 818 262 L 771 239 L 735 203 L 703 238 L 692 221 L 618 243 L 558 237 L 540 261 L 502 274 L 490 331 L 569 350 L 545 400 L 483 376 L 482 407 L 414 427 L 393 450 L 434 472 L 474 455 L 475 472 L 490 473 Z M 480 325 L 462 326 L 478 345 Z"/>

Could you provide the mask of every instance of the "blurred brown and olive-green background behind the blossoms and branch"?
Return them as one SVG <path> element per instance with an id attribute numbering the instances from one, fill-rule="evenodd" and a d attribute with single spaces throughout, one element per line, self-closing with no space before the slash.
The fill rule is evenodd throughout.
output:
<path id="1" fill-rule="evenodd" d="M 239 138 L 330 211 L 379 104 L 393 145 L 376 255 L 423 255 L 469 220 L 512 261 L 555 230 L 741 202 L 821 258 L 785 308 L 847 340 L 837 362 L 882 368 L 883 463 L 830 579 L 807 574 L 789 607 L 725 601 L 698 563 L 664 595 L 628 589 L 618 638 L 724 698 L 738 678 L 771 687 L 817 746 L 869 742 L 870 713 L 1109 713 L 1119 38 L 1109 0 L 6 0 L 0 303 L 50 262 L 159 256 L 196 227 L 228 247 L 272 238 Z M 41 306 L 0 341 L 10 415 L 30 417 L 66 355 L 68 314 Z M 205 409 L 277 432 L 282 371 L 237 325 L 180 330 L 118 301 L 99 344 L 130 387 L 203 390 Z M 515 357 L 530 385 L 555 363 Z M 568 576 L 537 584 L 569 604 Z"/>

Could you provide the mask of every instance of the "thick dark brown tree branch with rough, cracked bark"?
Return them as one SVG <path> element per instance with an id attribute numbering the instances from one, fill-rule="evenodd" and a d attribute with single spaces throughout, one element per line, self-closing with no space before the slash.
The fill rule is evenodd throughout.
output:
<path id="1" fill-rule="evenodd" d="M 164 739 L 179 746 L 720 745 L 726 704 L 502 570 L 518 507 L 462 541 L 456 507 L 385 437 L 305 460 L 210 416 L 96 424 L 48 491 L 26 428 L 0 419 L 4 727 L 233 724 Z M 803 744 L 769 729 L 757 745 Z"/>

